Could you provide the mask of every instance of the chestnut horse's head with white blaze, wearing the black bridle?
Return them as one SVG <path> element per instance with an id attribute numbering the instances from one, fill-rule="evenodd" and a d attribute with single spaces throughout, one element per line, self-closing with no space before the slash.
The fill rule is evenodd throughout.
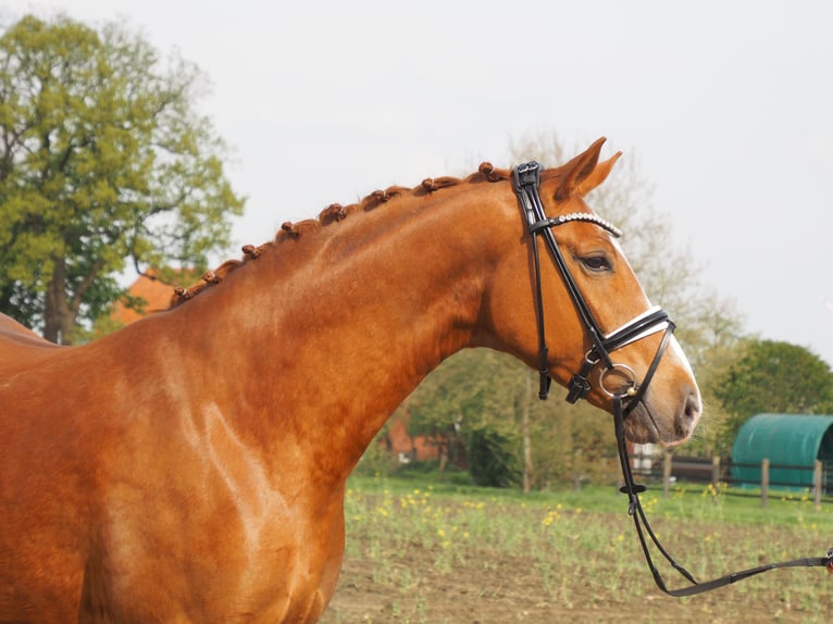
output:
<path id="1" fill-rule="evenodd" d="M 694 430 L 700 394 L 671 335 L 673 323 L 651 307 L 616 240 L 618 230 L 585 202 L 620 157 L 599 162 L 604 140 L 560 167 L 537 172 L 531 196 L 518 189 L 522 219 L 518 201 L 507 219 L 527 227 L 513 238 L 513 253 L 505 255 L 487 289 L 489 335 L 499 338 L 485 344 L 570 387 L 571 402 L 586 398 L 612 412 L 617 397 L 624 400 L 631 441 L 676 445 Z M 530 205 L 536 201 L 537 216 Z M 549 240 L 538 251 L 542 233 Z"/>

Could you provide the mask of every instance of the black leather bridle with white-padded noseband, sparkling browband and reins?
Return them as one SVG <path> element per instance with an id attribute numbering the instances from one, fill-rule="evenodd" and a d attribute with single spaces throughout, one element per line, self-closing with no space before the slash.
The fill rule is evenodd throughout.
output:
<path id="1" fill-rule="evenodd" d="M 575 284 L 570 269 L 564 261 L 564 257 L 561 249 L 558 246 L 558 241 L 552 234 L 552 228 L 572 222 L 587 222 L 594 223 L 599 227 L 609 232 L 612 236 L 619 237 L 621 233 L 613 225 L 596 216 L 595 214 L 576 212 L 571 214 L 564 214 L 556 217 L 548 217 L 544 211 L 544 204 L 540 200 L 540 194 L 538 187 L 540 185 L 540 165 L 531 161 L 525 164 L 518 165 L 513 171 L 514 190 L 518 195 L 518 199 L 521 203 L 521 209 L 526 221 L 526 227 L 532 236 L 532 253 L 533 253 L 533 272 L 535 278 L 535 312 L 537 316 L 537 329 L 538 329 L 538 373 L 540 375 L 540 387 L 538 390 L 538 398 L 546 399 L 549 395 L 549 388 L 552 382 L 549 375 L 548 352 L 545 325 L 544 325 L 544 297 L 542 288 L 540 277 L 540 254 L 538 252 L 538 238 L 544 239 L 544 244 L 552 258 L 558 273 L 561 275 L 561 279 L 567 287 L 570 298 L 579 313 L 579 316 L 584 325 L 585 332 L 590 341 L 590 348 L 584 357 L 579 373 L 574 374 L 570 380 L 567 400 L 570 403 L 575 403 L 579 399 L 586 396 L 590 390 L 592 385 L 589 382 L 589 374 L 596 365 L 600 366 L 599 373 L 599 388 L 610 397 L 613 405 L 613 424 L 617 438 L 617 448 L 619 451 L 619 461 L 622 469 L 622 476 L 624 478 L 624 486 L 620 488 L 620 491 L 627 495 L 629 515 L 633 516 L 634 524 L 636 525 L 636 534 L 639 537 L 639 544 L 645 556 L 645 561 L 648 564 L 648 569 L 654 576 L 654 581 L 657 587 L 669 596 L 683 597 L 694 596 L 696 594 L 703 594 L 705 591 L 711 591 L 732 583 L 737 583 L 745 578 L 749 578 L 762 572 L 775 570 L 778 567 L 805 567 L 805 566 L 823 566 L 828 569 L 828 572 L 833 574 L 833 549 L 828 551 L 826 557 L 818 558 L 803 558 L 794 559 L 792 561 L 783 561 L 779 563 L 770 563 L 759 565 L 749 570 L 743 570 L 733 574 L 714 578 L 705 583 L 698 583 L 694 576 L 682 565 L 680 565 L 666 548 L 660 544 L 654 529 L 648 523 L 648 519 L 645 515 L 642 503 L 639 501 L 639 494 L 646 490 L 644 485 L 638 485 L 634 481 L 633 471 L 631 469 L 631 459 L 627 453 L 627 444 L 624 433 L 624 421 L 633 409 L 643 400 L 645 391 L 650 384 L 654 374 L 659 366 L 659 362 L 662 359 L 662 354 L 668 347 L 671 336 L 674 332 L 674 323 L 669 319 L 668 313 L 659 307 L 654 307 L 638 316 L 632 319 L 625 323 L 619 329 L 605 334 L 599 328 L 593 312 L 587 305 L 587 301 L 584 299 L 579 286 Z M 648 370 L 646 371 L 642 382 L 636 379 L 636 373 L 626 364 L 613 362 L 611 353 L 617 349 L 635 342 L 646 336 L 650 336 L 658 332 L 663 332 L 662 339 L 657 352 L 654 355 Z M 606 379 L 611 373 L 619 373 L 624 375 L 626 383 L 616 388 L 609 388 L 606 385 Z M 647 407 L 645 407 L 647 409 Z M 682 574 L 692 585 L 680 589 L 669 589 L 659 570 L 654 563 L 650 554 L 647 536 L 650 541 L 657 547 L 659 552 L 671 564 L 674 570 Z"/>

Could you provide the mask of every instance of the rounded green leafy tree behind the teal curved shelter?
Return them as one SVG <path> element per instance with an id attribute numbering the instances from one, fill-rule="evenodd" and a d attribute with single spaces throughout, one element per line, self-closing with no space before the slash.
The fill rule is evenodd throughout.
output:
<path id="1" fill-rule="evenodd" d="M 833 413 L 833 372 L 812 351 L 775 340 L 750 340 L 714 384 L 728 417 L 722 435 L 729 450 L 748 419 L 759 413 Z"/>

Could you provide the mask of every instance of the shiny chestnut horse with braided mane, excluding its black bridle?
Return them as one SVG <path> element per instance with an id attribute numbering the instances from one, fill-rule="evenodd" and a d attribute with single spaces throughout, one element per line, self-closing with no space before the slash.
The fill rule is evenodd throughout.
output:
<path id="1" fill-rule="evenodd" d="M 599 162 L 602 141 L 542 172 L 549 214 L 590 214 L 583 197 L 619 155 Z M 345 482 L 395 408 L 465 347 L 537 367 L 521 212 L 511 172 L 484 163 L 285 224 L 170 310 L 87 345 L 2 317 L 0 621 L 316 621 Z M 555 234 L 605 330 L 649 308 L 598 223 Z M 544 260 L 548 364 L 565 385 L 590 342 Z M 644 375 L 660 339 L 618 358 Z M 587 398 L 610 411 L 597 382 Z M 679 442 L 699 405 L 672 338 L 629 438 Z"/>

